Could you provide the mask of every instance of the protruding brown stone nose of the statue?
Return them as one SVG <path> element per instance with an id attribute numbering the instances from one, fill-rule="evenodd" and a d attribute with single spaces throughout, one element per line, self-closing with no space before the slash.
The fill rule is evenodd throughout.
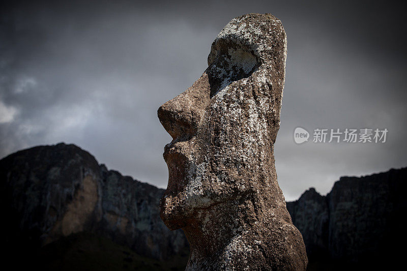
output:
<path id="1" fill-rule="evenodd" d="M 204 73 L 185 92 L 160 106 L 158 118 L 173 139 L 188 140 L 196 134 L 209 99 L 210 85 Z"/>

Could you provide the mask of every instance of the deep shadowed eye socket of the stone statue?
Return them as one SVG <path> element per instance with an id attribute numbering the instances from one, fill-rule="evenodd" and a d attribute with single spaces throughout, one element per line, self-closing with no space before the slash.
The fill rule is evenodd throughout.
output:
<path id="1" fill-rule="evenodd" d="M 208 64 L 211 98 L 231 82 L 248 78 L 260 66 L 257 57 L 249 50 L 225 40 L 212 46 Z"/>

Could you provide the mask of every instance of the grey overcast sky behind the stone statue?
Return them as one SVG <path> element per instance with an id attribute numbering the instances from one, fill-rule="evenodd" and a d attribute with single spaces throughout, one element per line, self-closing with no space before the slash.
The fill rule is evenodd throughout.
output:
<path id="1" fill-rule="evenodd" d="M 69 3 L 68 3 L 69 2 Z M 271 13 L 287 33 L 275 143 L 286 200 L 342 175 L 407 166 L 405 7 L 390 2 L 13 1 L 0 8 L 0 157 L 74 143 L 161 188 L 171 137 L 158 107 L 207 68 L 230 19 Z M 296 127 L 311 133 L 296 144 Z M 388 129 L 385 143 L 313 143 L 315 128 Z"/>

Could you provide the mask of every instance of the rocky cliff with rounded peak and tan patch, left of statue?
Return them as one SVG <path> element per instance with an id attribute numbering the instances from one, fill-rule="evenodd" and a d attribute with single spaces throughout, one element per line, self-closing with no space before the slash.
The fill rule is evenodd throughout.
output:
<path id="1" fill-rule="evenodd" d="M 0 161 L 0 179 L 6 244 L 38 247 L 91 231 L 156 259 L 188 246 L 184 233 L 159 217 L 164 190 L 107 170 L 75 145 L 12 154 Z"/>

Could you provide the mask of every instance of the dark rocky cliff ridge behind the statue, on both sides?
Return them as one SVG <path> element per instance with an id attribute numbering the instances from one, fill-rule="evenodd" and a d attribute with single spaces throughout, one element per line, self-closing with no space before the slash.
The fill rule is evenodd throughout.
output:
<path id="1" fill-rule="evenodd" d="M 309 270 L 395 268 L 405 251 L 406 177 L 407 168 L 341 177 L 326 196 L 311 188 L 297 201 L 287 202 L 304 238 Z M 164 190 L 107 170 L 75 145 L 38 146 L 12 154 L 0 160 L 0 179 L 6 257 L 13 254 L 30 264 L 27 254 L 37 257 L 34 251 L 45 247 L 46 260 L 64 257 L 59 264 L 52 262 L 56 267 L 51 269 L 86 264 L 92 266 L 87 269 L 126 269 L 133 260 L 136 269 L 169 270 L 165 259 L 186 263 L 184 233 L 168 230 L 159 217 Z M 100 256 L 92 261 L 95 244 Z M 74 247 L 75 253 L 62 251 L 64 246 Z M 89 246 L 92 253 L 86 251 Z M 113 254 L 118 252 L 125 265 L 115 262 Z M 137 265 L 140 262 L 144 265 Z"/>

